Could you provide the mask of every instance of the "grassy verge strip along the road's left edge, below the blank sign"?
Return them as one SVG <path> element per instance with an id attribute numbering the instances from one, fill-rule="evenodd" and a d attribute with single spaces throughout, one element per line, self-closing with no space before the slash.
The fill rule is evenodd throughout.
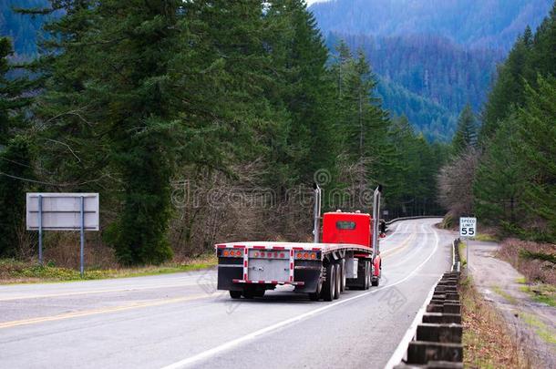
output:
<path id="1" fill-rule="evenodd" d="M 183 262 L 171 262 L 163 265 L 149 265 L 137 268 L 86 269 L 83 278 L 79 271 L 60 268 L 51 263 L 44 266 L 36 262 L 0 260 L 0 284 L 37 283 L 37 282 L 72 282 L 112 278 L 140 277 L 145 275 L 190 272 L 210 268 L 216 265 L 214 255 L 203 255 Z"/>

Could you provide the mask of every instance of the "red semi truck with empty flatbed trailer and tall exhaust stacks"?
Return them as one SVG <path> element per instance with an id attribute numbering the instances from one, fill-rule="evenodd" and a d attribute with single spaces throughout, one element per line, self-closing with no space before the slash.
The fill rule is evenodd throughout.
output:
<path id="1" fill-rule="evenodd" d="M 251 299 L 263 297 L 279 284 L 290 284 L 294 292 L 307 293 L 311 300 L 332 301 L 345 288 L 377 286 L 382 267 L 377 221 L 380 194 L 378 186 L 372 216 L 337 210 L 321 218 L 321 189 L 314 185 L 314 242 L 219 243 L 215 245 L 218 289 L 230 291 L 233 299 Z"/>

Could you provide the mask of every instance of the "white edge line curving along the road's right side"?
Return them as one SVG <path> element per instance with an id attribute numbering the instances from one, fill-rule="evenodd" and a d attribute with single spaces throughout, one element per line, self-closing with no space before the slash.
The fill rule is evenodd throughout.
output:
<path id="1" fill-rule="evenodd" d="M 227 343 L 222 343 L 221 345 L 218 345 L 218 346 L 213 347 L 213 348 L 211 348 L 211 349 L 209 349 L 209 350 L 203 351 L 203 352 L 201 352 L 200 354 L 195 354 L 195 355 L 190 356 L 190 357 L 188 357 L 188 358 L 186 358 L 186 359 L 180 360 L 179 362 L 176 362 L 176 363 L 174 363 L 174 364 L 170 364 L 170 365 L 167 365 L 167 366 L 163 366 L 161 369 L 179 369 L 179 368 L 186 367 L 186 366 L 188 366 L 188 365 L 190 365 L 190 364 L 194 364 L 194 363 L 197 363 L 197 362 L 199 362 L 199 361 L 201 361 L 201 360 L 203 360 L 203 359 L 209 358 L 209 357 L 211 357 L 212 355 L 220 354 L 221 352 L 226 351 L 226 350 L 229 350 L 229 349 L 231 349 L 232 347 L 235 347 L 235 346 L 238 346 L 238 345 L 240 345 L 240 344 L 242 344 L 242 343 L 251 341 L 251 340 L 257 338 L 257 337 L 260 336 L 260 335 L 263 335 L 263 334 L 265 334 L 265 333 L 269 333 L 269 332 L 275 331 L 275 330 L 280 329 L 280 328 L 282 328 L 282 327 L 284 327 L 284 326 L 286 326 L 286 325 L 290 325 L 290 324 L 292 324 L 292 323 L 299 322 L 299 321 L 301 321 L 301 320 L 303 320 L 303 319 L 305 319 L 305 318 L 308 318 L 308 317 L 310 317 L 310 316 L 313 316 L 313 315 L 315 315 L 315 314 L 317 314 L 317 313 L 324 312 L 325 310 L 331 309 L 331 308 L 333 308 L 333 307 L 335 307 L 335 306 L 337 306 L 337 305 L 340 305 L 340 304 L 342 304 L 342 303 L 350 302 L 350 301 L 353 301 L 353 300 L 355 300 L 355 299 L 362 298 L 362 297 L 364 297 L 364 296 L 366 296 L 366 295 L 368 295 L 368 294 L 376 293 L 376 292 L 385 290 L 385 289 L 387 289 L 387 288 L 394 287 L 394 286 L 396 286 L 397 284 L 406 282 L 409 278 L 411 278 L 411 277 L 413 276 L 413 274 L 415 274 L 419 269 L 421 269 L 421 268 L 430 260 L 430 258 L 432 258 L 432 256 L 437 252 L 437 250 L 438 250 L 438 242 L 439 242 L 439 240 L 438 240 L 438 234 L 437 234 L 437 231 L 435 231 L 435 230 L 433 230 L 433 231 L 434 231 L 434 233 L 435 233 L 435 239 L 436 239 L 436 241 L 435 241 L 435 247 L 434 247 L 433 251 L 428 255 L 428 257 L 427 257 L 427 259 L 426 259 L 425 261 L 421 262 L 421 263 L 417 266 L 417 268 L 415 268 L 412 272 L 410 272 L 409 274 L 407 274 L 407 276 L 406 276 L 405 278 L 401 279 L 400 281 L 398 281 L 398 282 L 396 282 L 396 283 L 393 283 L 393 284 L 386 285 L 386 286 L 384 286 L 384 287 L 378 288 L 378 289 L 373 290 L 373 291 L 364 292 L 364 293 L 355 295 L 354 297 L 350 297 L 349 299 L 340 300 L 339 302 L 329 303 L 329 304 L 326 304 L 325 306 L 323 306 L 323 307 L 321 307 L 321 308 L 312 310 L 312 311 L 307 312 L 307 313 L 303 313 L 303 314 L 301 314 L 301 315 L 295 316 L 295 317 L 290 318 L 290 319 L 286 319 L 285 321 L 282 321 L 282 322 L 274 323 L 273 325 L 270 325 L 270 326 L 265 327 L 265 328 L 263 328 L 263 329 L 260 329 L 260 330 L 258 330 L 258 331 L 255 331 L 255 332 L 246 334 L 246 335 L 244 335 L 244 336 L 242 336 L 242 337 L 240 337 L 240 338 L 237 338 L 237 339 L 235 339 L 235 340 L 229 341 L 229 342 L 227 342 Z M 440 278 L 441 278 L 441 277 L 440 277 Z M 400 360 L 401 360 L 401 359 L 400 359 Z"/>

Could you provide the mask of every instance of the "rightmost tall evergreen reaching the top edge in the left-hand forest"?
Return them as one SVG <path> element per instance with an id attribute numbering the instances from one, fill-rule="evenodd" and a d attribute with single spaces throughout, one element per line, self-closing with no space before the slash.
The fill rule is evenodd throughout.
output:
<path id="1" fill-rule="evenodd" d="M 328 52 L 304 1 L 277 0 L 269 4 L 266 20 L 275 37 L 271 56 L 274 68 L 283 74 L 277 98 L 291 118 L 288 146 L 292 175 L 308 183 L 316 170 L 335 169 L 334 97 L 326 70 Z"/>

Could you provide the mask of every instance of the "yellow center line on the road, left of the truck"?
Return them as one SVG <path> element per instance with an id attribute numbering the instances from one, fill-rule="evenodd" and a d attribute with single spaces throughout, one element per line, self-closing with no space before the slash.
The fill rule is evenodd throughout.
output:
<path id="1" fill-rule="evenodd" d="M 157 300 L 157 301 L 152 301 L 152 302 L 137 302 L 137 303 L 131 303 L 131 304 L 128 304 L 128 305 L 120 305 L 120 306 L 113 306 L 113 307 L 107 307 L 107 308 L 99 308 L 99 309 L 86 310 L 86 311 L 81 311 L 81 312 L 61 313 L 61 314 L 51 315 L 51 316 L 41 316 L 41 317 L 38 317 L 38 318 L 31 318 L 31 319 L 24 319 L 24 320 L 20 320 L 20 321 L 0 323 L 0 329 L 12 328 L 12 327 L 20 326 L 20 325 L 29 325 L 29 324 L 45 323 L 45 322 L 55 322 L 55 321 L 61 321 L 61 320 L 64 320 L 64 319 L 79 318 L 79 317 L 83 317 L 83 316 L 97 315 L 97 314 L 103 314 L 103 313 L 125 312 L 125 311 L 128 311 L 128 310 L 139 309 L 139 308 L 144 308 L 144 307 L 160 306 L 160 305 L 166 305 L 166 304 L 175 303 L 175 302 L 186 302 L 186 301 L 192 301 L 192 300 L 200 300 L 200 299 L 208 298 L 208 297 L 210 297 L 209 294 L 203 293 L 203 294 L 197 294 L 197 295 L 192 295 L 192 296 L 188 296 L 188 297 L 178 297 L 178 298 L 174 298 L 174 299 L 162 299 L 162 300 Z"/>

